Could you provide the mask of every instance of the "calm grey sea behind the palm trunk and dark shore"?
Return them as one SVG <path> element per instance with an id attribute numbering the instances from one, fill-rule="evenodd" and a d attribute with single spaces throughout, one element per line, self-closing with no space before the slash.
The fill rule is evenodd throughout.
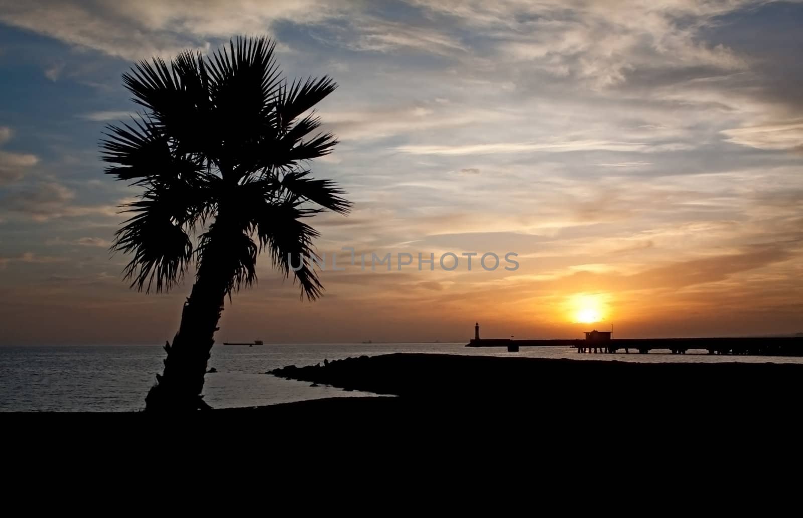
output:
<path id="1" fill-rule="evenodd" d="M 212 406 L 259 406 L 333 396 L 359 396 L 332 387 L 311 387 L 263 374 L 286 365 L 314 365 L 329 361 L 385 353 L 451 353 L 505 357 L 566 357 L 619 361 L 753 361 L 803 363 L 801 357 L 732 357 L 707 354 L 598 355 L 577 354 L 573 349 L 474 349 L 459 344 L 305 344 L 216 345 L 206 375 L 205 399 Z M 0 410 L 141 410 L 161 372 L 165 352 L 160 345 L 94 345 L 79 347 L 0 347 Z"/>

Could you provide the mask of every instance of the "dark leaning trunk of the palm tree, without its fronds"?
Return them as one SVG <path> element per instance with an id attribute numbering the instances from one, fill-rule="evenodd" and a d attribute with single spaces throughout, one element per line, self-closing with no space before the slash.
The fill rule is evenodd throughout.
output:
<path id="1" fill-rule="evenodd" d="M 214 226 L 218 228 L 210 229 L 210 233 L 219 239 L 210 239 L 204 261 L 198 269 L 197 282 L 181 311 L 181 325 L 173 337 L 173 344 L 165 344 L 165 370 L 161 375 L 157 374 L 157 384 L 145 397 L 145 410 L 210 408 L 201 395 L 206 362 L 209 361 L 214 332 L 218 330 L 226 292 L 234 275 L 226 267 L 229 262 L 225 259 L 225 230 L 218 223 Z"/>

